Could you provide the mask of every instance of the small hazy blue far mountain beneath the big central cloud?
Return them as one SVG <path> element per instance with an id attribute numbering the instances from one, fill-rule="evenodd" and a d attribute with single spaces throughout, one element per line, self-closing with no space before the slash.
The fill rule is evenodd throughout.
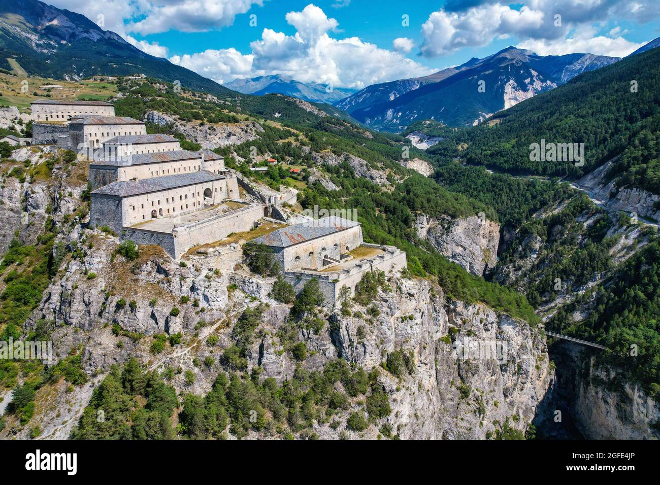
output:
<path id="1" fill-rule="evenodd" d="M 300 82 L 279 74 L 259 76 L 251 79 L 236 79 L 224 84 L 226 88 L 243 94 L 285 94 L 312 103 L 333 104 L 356 92 L 355 89 L 331 88 L 328 84 Z"/>

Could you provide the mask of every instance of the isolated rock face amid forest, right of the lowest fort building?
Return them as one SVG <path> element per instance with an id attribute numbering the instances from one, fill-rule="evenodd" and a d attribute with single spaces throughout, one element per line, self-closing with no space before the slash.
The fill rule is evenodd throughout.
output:
<path id="1" fill-rule="evenodd" d="M 496 222 L 481 223 L 477 216 L 436 220 L 421 215 L 415 226 L 420 238 L 473 275 L 482 276 L 497 264 L 500 224 Z"/>

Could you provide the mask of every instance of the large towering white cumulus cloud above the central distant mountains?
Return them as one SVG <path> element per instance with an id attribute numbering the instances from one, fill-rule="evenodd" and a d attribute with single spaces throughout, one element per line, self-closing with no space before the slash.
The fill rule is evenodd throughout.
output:
<path id="1" fill-rule="evenodd" d="M 170 61 L 205 77 L 222 80 L 219 82 L 281 74 L 302 82 L 350 88 L 435 71 L 401 53 L 378 48 L 357 37 L 334 38 L 330 34 L 339 23 L 315 5 L 287 13 L 286 21 L 296 29 L 293 35 L 265 28 L 261 38 L 251 42 L 251 53 L 247 55 L 235 49 L 207 50 L 175 56 Z"/>

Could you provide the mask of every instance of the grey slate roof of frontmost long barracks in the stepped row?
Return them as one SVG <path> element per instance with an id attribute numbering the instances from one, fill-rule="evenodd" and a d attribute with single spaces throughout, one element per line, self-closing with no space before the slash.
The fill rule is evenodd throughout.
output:
<path id="1" fill-rule="evenodd" d="M 190 172 L 189 174 L 166 175 L 164 177 L 143 180 L 116 181 L 104 185 L 100 189 L 96 189 L 92 192 L 92 195 L 102 194 L 129 197 L 130 195 L 160 192 L 162 190 L 176 189 L 176 187 L 185 187 L 186 185 L 221 179 L 224 179 L 221 175 L 216 175 L 208 170 L 199 170 L 199 172 Z"/>

